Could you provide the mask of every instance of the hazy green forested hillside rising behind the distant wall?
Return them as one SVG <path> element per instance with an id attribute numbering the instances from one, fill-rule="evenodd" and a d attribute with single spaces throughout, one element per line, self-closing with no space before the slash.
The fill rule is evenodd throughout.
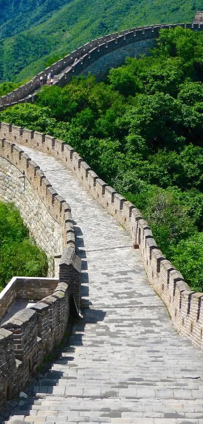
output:
<path id="1" fill-rule="evenodd" d="M 0 0 L 0 81 L 22 81 L 101 35 L 191 22 L 200 0 Z M 6 37 L 6 38 L 5 38 Z"/>

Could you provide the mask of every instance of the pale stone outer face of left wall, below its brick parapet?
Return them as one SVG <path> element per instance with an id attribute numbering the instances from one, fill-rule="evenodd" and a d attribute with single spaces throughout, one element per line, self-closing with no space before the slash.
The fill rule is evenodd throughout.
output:
<path id="1" fill-rule="evenodd" d="M 0 200 L 14 202 L 37 245 L 49 261 L 49 276 L 58 276 L 58 261 L 64 247 L 62 227 L 44 207 L 43 201 L 22 172 L 7 159 L 0 157 Z"/>

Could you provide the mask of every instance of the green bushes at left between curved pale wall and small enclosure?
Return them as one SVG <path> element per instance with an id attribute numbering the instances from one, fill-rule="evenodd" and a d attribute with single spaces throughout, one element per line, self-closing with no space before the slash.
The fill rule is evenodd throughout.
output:
<path id="1" fill-rule="evenodd" d="M 0 202 L 0 291 L 14 276 L 46 276 L 46 254 L 29 238 L 19 211 Z"/>

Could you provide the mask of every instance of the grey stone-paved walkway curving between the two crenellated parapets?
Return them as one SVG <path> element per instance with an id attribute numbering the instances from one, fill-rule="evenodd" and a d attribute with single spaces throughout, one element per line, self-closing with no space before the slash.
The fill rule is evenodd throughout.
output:
<path id="1" fill-rule="evenodd" d="M 84 319 L 9 423 L 203 423 L 203 352 L 179 337 L 139 250 L 61 162 L 22 147 L 70 203 Z"/>

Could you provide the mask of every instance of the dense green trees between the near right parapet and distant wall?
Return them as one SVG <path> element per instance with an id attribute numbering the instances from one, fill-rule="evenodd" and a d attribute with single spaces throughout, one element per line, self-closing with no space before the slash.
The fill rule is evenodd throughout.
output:
<path id="1" fill-rule="evenodd" d="M 203 291 L 203 33 L 161 30 L 149 57 L 100 83 L 44 87 L 1 120 L 64 140 L 139 208 L 159 248 Z"/>

